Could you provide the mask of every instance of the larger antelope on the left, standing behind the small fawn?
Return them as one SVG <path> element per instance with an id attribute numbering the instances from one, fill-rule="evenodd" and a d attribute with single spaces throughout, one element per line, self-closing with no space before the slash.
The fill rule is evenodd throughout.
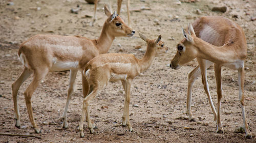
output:
<path id="1" fill-rule="evenodd" d="M 15 126 L 20 128 L 19 110 L 17 106 L 17 93 L 20 85 L 33 73 L 33 80 L 26 89 L 24 95 L 28 108 L 30 122 L 39 133 L 40 129 L 36 125 L 31 107 L 31 97 L 40 81 L 49 71 L 70 70 L 70 81 L 68 97 L 65 110 L 63 112 L 63 128 L 68 127 L 67 110 L 69 101 L 74 91 L 74 82 L 78 70 L 96 55 L 108 52 L 115 37 L 131 37 L 135 31 L 127 26 L 123 20 L 117 16 L 116 12 L 110 13 L 105 8 L 105 14 L 109 18 L 104 22 L 101 34 L 98 39 L 88 39 L 80 36 L 60 36 L 60 35 L 35 35 L 23 42 L 19 46 L 18 55 L 24 65 L 23 73 L 12 84 L 12 96 L 15 111 Z M 83 96 L 89 90 L 86 78 L 82 76 Z"/>

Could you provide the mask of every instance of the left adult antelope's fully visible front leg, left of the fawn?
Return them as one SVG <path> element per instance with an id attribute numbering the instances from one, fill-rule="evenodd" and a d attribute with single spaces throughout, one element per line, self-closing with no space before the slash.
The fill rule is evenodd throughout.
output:
<path id="1" fill-rule="evenodd" d="M 62 128 L 68 128 L 67 112 L 68 112 L 70 99 L 72 97 L 72 94 L 74 93 L 77 71 L 78 70 L 70 70 L 68 97 L 67 97 L 66 106 L 62 115 L 62 121 L 63 121 Z"/>

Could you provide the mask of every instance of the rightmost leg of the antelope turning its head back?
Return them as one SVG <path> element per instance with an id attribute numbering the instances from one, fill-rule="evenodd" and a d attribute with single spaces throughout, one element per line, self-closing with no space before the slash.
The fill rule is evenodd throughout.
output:
<path id="1" fill-rule="evenodd" d="M 238 85 L 239 85 L 239 100 L 241 103 L 242 114 L 243 114 L 243 122 L 244 122 L 244 130 L 245 137 L 252 138 L 251 132 L 249 130 L 246 115 L 245 115 L 245 107 L 244 107 L 244 67 L 238 69 Z"/>

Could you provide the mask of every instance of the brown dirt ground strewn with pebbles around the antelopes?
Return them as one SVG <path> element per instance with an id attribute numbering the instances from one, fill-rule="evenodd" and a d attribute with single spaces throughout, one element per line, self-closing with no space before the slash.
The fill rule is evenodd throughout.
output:
<path id="1" fill-rule="evenodd" d="M 89 134 L 87 123 L 84 122 L 85 137 L 80 138 L 78 124 L 81 115 L 82 91 L 81 74 L 78 72 L 76 90 L 72 96 L 69 110 L 69 128 L 61 129 L 61 116 L 66 104 L 69 71 L 50 72 L 41 82 L 32 97 L 32 107 L 37 125 L 41 133 L 36 134 L 31 128 L 24 99 L 24 91 L 31 82 L 27 79 L 20 87 L 18 105 L 22 129 L 14 126 L 14 107 L 11 84 L 23 70 L 17 56 L 18 45 L 36 34 L 80 35 L 97 38 L 106 16 L 103 5 L 108 1 L 101 0 L 98 4 L 95 25 L 89 23 L 93 15 L 94 5 L 83 0 L 50 1 L 23 0 L 0 1 L 0 132 L 16 134 L 33 134 L 42 139 L 32 137 L 1 136 L 0 142 L 256 142 L 256 22 L 251 17 L 256 15 L 256 1 L 214 1 L 200 0 L 195 3 L 176 0 L 131 1 L 132 27 L 144 35 L 157 38 L 169 47 L 167 53 L 158 55 L 152 66 L 133 80 L 131 88 L 130 122 L 133 132 L 127 127 L 119 126 L 124 106 L 124 91 L 121 82 L 109 85 L 91 102 L 91 119 L 98 129 Z M 126 2 L 123 2 L 121 17 L 127 21 Z M 79 5 L 78 14 L 70 12 Z M 227 6 L 227 12 L 212 12 L 214 6 Z M 141 7 L 151 10 L 136 10 Z M 112 2 L 116 10 L 116 0 Z M 201 10 L 201 14 L 196 13 Z M 221 104 L 221 120 L 224 134 L 216 133 L 217 127 L 207 96 L 203 90 L 201 77 L 196 80 L 193 89 L 192 111 L 196 122 L 186 120 L 187 75 L 197 66 L 196 60 L 189 62 L 180 70 L 168 67 L 176 53 L 176 44 L 182 39 L 181 27 L 200 16 L 220 15 L 236 21 L 243 28 L 248 57 L 245 62 L 245 105 L 252 139 L 245 139 L 244 133 L 235 130 L 243 125 L 242 112 L 238 99 L 237 71 L 222 68 L 223 98 Z M 127 22 L 126 22 L 127 23 Z M 142 46 L 141 50 L 135 46 Z M 138 33 L 131 38 L 117 37 L 109 52 L 133 53 L 142 58 L 146 43 Z M 209 89 L 212 100 L 217 106 L 217 92 L 214 70 L 208 70 Z M 101 109 L 108 106 L 108 109 Z M 188 126 L 190 129 L 185 130 Z M 192 134 L 192 135 L 191 135 Z"/>

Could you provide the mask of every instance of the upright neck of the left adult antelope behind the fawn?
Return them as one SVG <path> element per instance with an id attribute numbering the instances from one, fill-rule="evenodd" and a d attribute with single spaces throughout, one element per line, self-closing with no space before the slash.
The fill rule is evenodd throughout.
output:
<path id="1" fill-rule="evenodd" d="M 95 39 L 95 46 L 97 47 L 99 54 L 108 52 L 114 39 L 115 37 L 108 34 L 107 25 L 104 23 L 99 38 Z"/>

